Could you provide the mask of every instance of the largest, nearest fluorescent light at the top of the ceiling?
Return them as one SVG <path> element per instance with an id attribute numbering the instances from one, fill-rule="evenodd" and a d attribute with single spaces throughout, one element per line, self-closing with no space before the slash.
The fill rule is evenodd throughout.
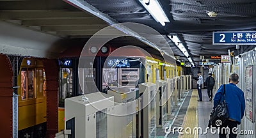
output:
<path id="1" fill-rule="evenodd" d="M 157 0 L 139 0 L 140 3 L 147 9 L 147 11 L 152 15 L 152 17 L 165 26 L 165 22 L 170 22 L 166 14 L 163 11 L 163 8 Z M 147 4 L 146 4 L 147 3 Z"/>

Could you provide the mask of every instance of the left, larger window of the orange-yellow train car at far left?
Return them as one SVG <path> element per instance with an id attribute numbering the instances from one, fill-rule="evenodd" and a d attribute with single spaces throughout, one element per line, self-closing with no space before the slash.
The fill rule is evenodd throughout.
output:
<path id="1" fill-rule="evenodd" d="M 34 92 L 34 75 L 31 68 L 22 68 L 21 70 L 21 99 L 28 100 L 35 97 Z"/>

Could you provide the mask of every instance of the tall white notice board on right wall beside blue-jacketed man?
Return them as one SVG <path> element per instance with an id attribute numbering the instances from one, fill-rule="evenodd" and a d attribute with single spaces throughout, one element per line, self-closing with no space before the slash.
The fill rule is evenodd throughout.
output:
<path id="1" fill-rule="evenodd" d="M 245 116 L 254 122 L 253 114 L 253 66 L 246 66 L 246 112 Z"/>

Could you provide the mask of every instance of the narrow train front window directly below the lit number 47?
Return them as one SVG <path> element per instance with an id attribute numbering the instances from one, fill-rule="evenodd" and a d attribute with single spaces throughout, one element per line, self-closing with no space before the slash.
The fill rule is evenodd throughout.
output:
<path id="1" fill-rule="evenodd" d="M 59 107 L 64 107 L 65 98 L 72 97 L 72 68 L 61 68 Z"/>

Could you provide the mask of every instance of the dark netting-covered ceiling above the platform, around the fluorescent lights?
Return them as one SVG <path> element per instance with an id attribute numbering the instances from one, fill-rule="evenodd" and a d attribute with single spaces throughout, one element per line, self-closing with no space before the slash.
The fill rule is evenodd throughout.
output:
<path id="1" fill-rule="evenodd" d="M 165 26 L 161 26 L 152 18 L 140 4 L 140 0 L 84 1 L 118 22 L 146 24 L 164 37 L 167 34 L 178 34 L 195 62 L 200 61 L 200 56 L 220 56 L 228 54 L 228 49 L 236 49 L 236 45 L 212 45 L 212 31 L 255 31 L 256 29 L 254 0 L 161 0 L 159 2 L 170 20 Z M 216 17 L 209 17 L 207 15 L 209 11 L 217 13 Z M 172 41 L 167 37 L 166 40 L 176 56 L 182 55 Z"/>

